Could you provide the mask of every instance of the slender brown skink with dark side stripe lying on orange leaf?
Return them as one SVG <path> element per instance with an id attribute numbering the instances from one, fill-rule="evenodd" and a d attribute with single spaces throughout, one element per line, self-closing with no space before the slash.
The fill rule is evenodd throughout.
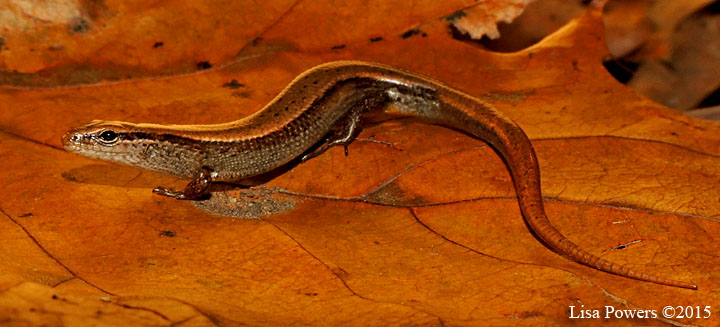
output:
<path id="1" fill-rule="evenodd" d="M 229 123 L 94 121 L 69 131 L 62 142 L 67 150 L 88 157 L 194 177 L 182 192 L 160 187 L 154 192 L 197 199 L 213 180 L 260 175 L 302 155 L 304 161 L 334 145 L 347 146 L 359 131 L 362 114 L 388 103 L 400 113 L 463 131 L 497 149 L 512 175 L 525 221 L 553 251 L 608 273 L 697 289 L 693 284 L 630 270 L 569 241 L 545 215 L 535 150 L 515 122 L 442 82 L 386 65 L 338 61 L 314 67 L 260 111 Z M 319 148 L 308 152 L 318 144 Z"/>

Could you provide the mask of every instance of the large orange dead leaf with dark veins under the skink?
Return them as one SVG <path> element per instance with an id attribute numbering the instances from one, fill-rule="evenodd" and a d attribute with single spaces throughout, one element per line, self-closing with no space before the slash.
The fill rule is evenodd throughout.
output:
<path id="1" fill-rule="evenodd" d="M 70 32 L 6 38 L 2 324 L 717 324 L 720 126 L 616 82 L 602 66 L 597 6 L 539 44 L 497 54 L 447 31 L 442 17 L 472 1 L 160 3 L 141 15 L 148 8 L 108 2 L 82 28 L 75 17 Z M 195 24 L 190 36 L 160 28 L 177 20 Z M 553 253 L 525 226 L 491 148 L 414 120 L 369 126 L 349 157 L 332 149 L 253 194 L 199 203 L 150 192 L 185 180 L 60 149 L 60 136 L 90 119 L 234 120 L 337 59 L 403 67 L 492 102 L 532 139 L 560 231 L 699 290 Z M 669 305 L 711 306 L 711 316 L 664 318 Z M 658 316 L 571 317 L 606 306 Z"/>

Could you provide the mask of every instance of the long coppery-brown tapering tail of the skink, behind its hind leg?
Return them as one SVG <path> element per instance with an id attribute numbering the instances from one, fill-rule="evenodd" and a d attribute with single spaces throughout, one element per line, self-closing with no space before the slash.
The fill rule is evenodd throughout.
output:
<path id="1" fill-rule="evenodd" d="M 503 155 L 515 183 L 525 221 L 546 246 L 575 262 L 618 276 L 660 285 L 697 289 L 694 284 L 647 275 L 612 263 L 581 249 L 568 240 L 550 224 L 545 214 L 537 156 L 522 129 L 491 105 L 462 92 L 443 89 L 438 91 L 438 96 L 444 104 L 439 108 L 443 114 L 430 118 L 486 140 Z"/>

